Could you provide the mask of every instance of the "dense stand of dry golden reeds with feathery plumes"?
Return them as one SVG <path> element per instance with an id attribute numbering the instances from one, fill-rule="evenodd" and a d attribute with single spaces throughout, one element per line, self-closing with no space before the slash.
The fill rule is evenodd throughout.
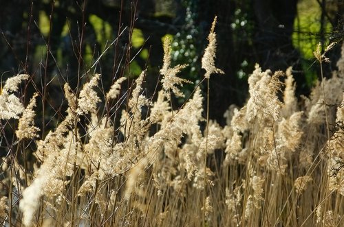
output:
<path id="1" fill-rule="evenodd" d="M 214 26 L 202 83 L 225 76 L 213 75 L 222 73 Z M 155 101 L 143 95 L 145 71 L 130 96 L 120 92 L 125 77 L 103 93 L 100 75 L 79 93 L 65 84 L 65 118 L 41 139 L 34 126 L 40 96 L 25 108 L 19 92 L 30 76 L 6 81 L 1 127 L 15 126 L 17 139 L 1 161 L 1 224 L 343 226 L 344 46 L 338 71 L 310 97 L 295 97 L 291 69 L 257 65 L 246 105 L 228 108 L 224 128 L 208 119 L 209 91 L 203 97 L 198 86 L 173 110 L 171 93 L 182 96 L 179 86 L 188 81 L 176 75 L 183 65 L 170 66 L 168 40 L 164 51 Z M 314 55 L 320 65 L 327 60 L 319 50 Z M 27 160 L 33 144 L 35 158 Z"/>

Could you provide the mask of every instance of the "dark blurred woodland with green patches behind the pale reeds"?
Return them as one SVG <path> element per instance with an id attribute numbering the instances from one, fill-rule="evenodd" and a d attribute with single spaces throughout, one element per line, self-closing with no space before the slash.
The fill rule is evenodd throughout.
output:
<path id="1" fill-rule="evenodd" d="M 93 73 L 107 91 L 118 77 L 135 79 L 143 69 L 153 95 L 162 67 L 162 38 L 172 38 L 173 64 L 189 64 L 181 77 L 202 80 L 200 62 L 214 16 L 217 59 L 226 75 L 211 77 L 211 118 L 224 123 L 230 104 L 242 105 L 247 78 L 263 69 L 293 67 L 297 93 L 308 95 L 319 77 L 313 51 L 338 42 L 325 76 L 336 69 L 343 41 L 342 0 L 1 0 L 1 81 L 30 74 L 33 90 L 56 113 L 63 84 L 76 89 Z M 132 80 L 129 80 L 128 88 Z M 195 84 L 184 86 L 186 98 Z M 30 86 L 31 86 L 30 85 Z M 159 84 L 158 84 L 159 86 Z M 30 96 L 28 96 L 30 97 Z M 24 100 L 27 102 L 28 100 Z M 175 105 L 184 99 L 175 99 Z"/>

